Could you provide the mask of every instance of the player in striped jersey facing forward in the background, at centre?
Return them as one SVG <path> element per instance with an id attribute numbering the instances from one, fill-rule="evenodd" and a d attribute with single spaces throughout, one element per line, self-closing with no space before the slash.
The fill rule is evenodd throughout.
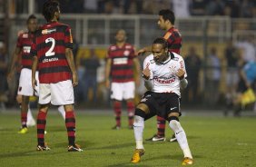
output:
<path id="1" fill-rule="evenodd" d="M 126 101 L 129 128 L 133 129 L 134 93 L 135 83 L 133 76 L 133 65 L 137 73 L 136 84 L 140 84 L 139 71 L 141 66 L 132 44 L 126 43 L 126 33 L 123 29 L 118 30 L 115 35 L 116 44 L 108 49 L 105 67 L 106 87 L 111 87 L 111 98 L 113 99 L 113 111 L 116 124 L 113 129 L 121 127 L 122 101 Z M 110 83 L 110 77 L 112 82 Z M 111 86 L 110 86 L 111 84 Z"/>

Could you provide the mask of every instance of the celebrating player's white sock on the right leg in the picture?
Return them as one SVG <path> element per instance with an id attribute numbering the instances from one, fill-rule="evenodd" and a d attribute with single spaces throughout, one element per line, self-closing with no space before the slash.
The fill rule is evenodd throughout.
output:
<path id="1" fill-rule="evenodd" d="M 184 157 L 192 158 L 192 153 L 190 151 L 190 147 L 187 141 L 186 133 L 184 132 L 181 123 L 179 123 L 176 120 L 172 120 L 169 123 L 169 126 L 172 128 L 173 132 L 175 133 L 175 136 L 177 138 L 177 141 L 180 144 L 180 147 L 182 149 L 182 152 L 184 154 Z"/>

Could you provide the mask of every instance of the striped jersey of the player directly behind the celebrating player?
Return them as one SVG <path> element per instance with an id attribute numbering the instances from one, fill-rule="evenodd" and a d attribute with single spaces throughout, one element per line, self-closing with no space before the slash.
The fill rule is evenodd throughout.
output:
<path id="1" fill-rule="evenodd" d="M 170 28 L 164 35 L 163 38 L 168 42 L 168 50 L 169 52 L 173 52 L 176 54 L 181 53 L 182 48 L 182 35 L 179 30 L 172 27 Z"/>

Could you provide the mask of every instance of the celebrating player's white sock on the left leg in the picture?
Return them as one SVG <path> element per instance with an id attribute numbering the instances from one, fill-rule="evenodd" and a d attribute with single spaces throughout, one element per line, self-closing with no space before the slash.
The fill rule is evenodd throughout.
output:
<path id="1" fill-rule="evenodd" d="M 136 149 L 144 149 L 143 147 L 143 129 L 144 118 L 138 115 L 134 116 L 133 131 L 136 141 Z"/>

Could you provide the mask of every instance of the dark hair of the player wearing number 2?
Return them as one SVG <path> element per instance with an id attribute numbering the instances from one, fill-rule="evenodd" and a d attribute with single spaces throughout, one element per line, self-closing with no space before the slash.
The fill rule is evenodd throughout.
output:
<path id="1" fill-rule="evenodd" d="M 55 12 L 58 12 L 59 3 L 57 1 L 48 0 L 44 3 L 43 15 L 47 22 L 51 21 L 54 18 Z"/>

